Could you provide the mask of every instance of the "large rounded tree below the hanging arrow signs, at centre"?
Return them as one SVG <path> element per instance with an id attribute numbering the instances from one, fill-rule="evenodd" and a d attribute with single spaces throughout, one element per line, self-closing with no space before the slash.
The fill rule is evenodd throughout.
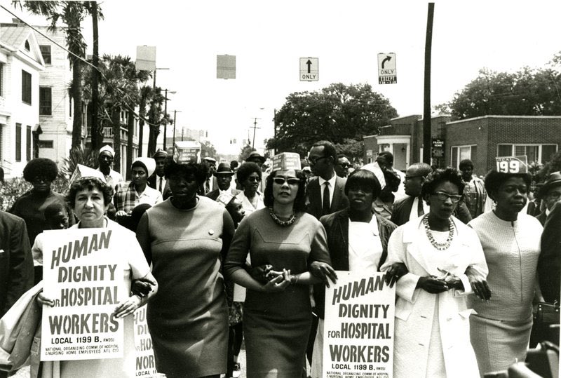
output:
<path id="1" fill-rule="evenodd" d="M 277 133 L 267 149 L 305 155 L 318 140 L 359 142 L 397 115 L 389 100 L 372 91 L 369 84 L 334 83 L 320 91 L 291 93 L 276 113 Z"/>

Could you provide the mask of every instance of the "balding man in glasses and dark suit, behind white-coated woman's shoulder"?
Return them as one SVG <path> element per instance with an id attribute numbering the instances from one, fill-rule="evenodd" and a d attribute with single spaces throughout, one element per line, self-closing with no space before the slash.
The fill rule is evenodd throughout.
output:
<path id="1" fill-rule="evenodd" d="M 428 212 L 428 205 L 421 198 L 421 187 L 433 169 L 427 163 L 414 163 L 405 171 L 405 198 L 393 203 L 391 222 L 401 226 Z M 414 211 L 412 211 L 414 210 Z"/>

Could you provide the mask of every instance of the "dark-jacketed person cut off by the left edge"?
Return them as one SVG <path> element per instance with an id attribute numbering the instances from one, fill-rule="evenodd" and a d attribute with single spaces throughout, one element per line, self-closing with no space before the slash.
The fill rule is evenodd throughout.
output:
<path id="1" fill-rule="evenodd" d="M 0 211 L 0 318 L 33 286 L 33 257 L 20 217 Z"/>

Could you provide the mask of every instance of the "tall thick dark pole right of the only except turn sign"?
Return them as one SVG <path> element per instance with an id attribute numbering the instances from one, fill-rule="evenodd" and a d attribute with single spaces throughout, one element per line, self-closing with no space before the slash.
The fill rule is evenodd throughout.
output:
<path id="1" fill-rule="evenodd" d="M 431 51 L 434 3 L 428 3 L 425 40 L 425 93 L 423 109 L 423 162 L 431 164 Z"/>

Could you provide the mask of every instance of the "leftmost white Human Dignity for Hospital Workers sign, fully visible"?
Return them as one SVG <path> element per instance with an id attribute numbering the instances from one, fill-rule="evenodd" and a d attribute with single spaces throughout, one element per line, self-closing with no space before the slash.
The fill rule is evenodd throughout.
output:
<path id="1" fill-rule="evenodd" d="M 128 296 L 123 251 L 109 229 L 46 231 L 43 242 L 41 360 L 123 357 L 123 319 L 114 311 Z"/>

